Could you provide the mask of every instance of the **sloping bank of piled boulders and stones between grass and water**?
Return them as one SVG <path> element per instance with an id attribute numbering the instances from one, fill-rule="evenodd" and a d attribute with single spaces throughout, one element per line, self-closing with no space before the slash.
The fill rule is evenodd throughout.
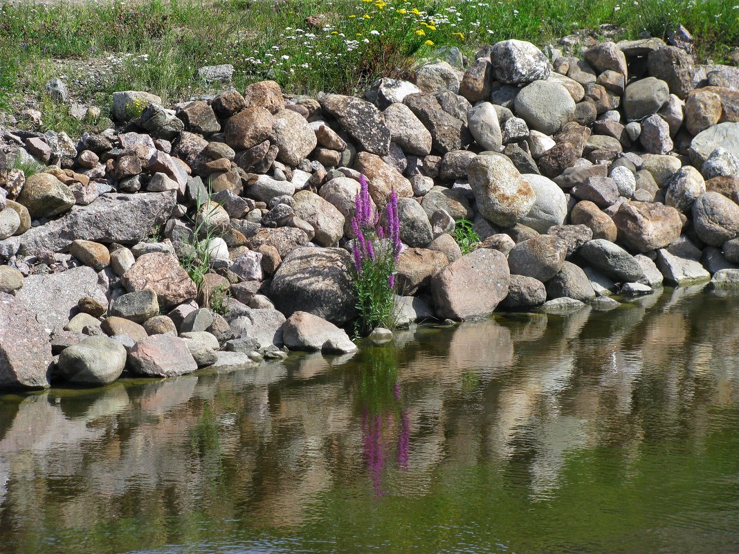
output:
<path id="1" fill-rule="evenodd" d="M 401 326 L 739 287 L 739 68 L 657 38 L 549 53 L 502 41 L 364 98 L 118 92 L 77 143 L 0 130 L 0 389 L 352 352 L 361 174 L 378 211 L 399 197 Z"/>

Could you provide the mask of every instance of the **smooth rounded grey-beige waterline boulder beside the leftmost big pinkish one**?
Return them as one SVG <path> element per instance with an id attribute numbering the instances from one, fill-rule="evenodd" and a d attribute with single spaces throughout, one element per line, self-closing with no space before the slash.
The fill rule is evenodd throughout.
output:
<path id="1" fill-rule="evenodd" d="M 109 337 L 88 337 L 64 349 L 57 367 L 68 383 L 102 386 L 112 383 L 126 366 L 126 349 Z"/>

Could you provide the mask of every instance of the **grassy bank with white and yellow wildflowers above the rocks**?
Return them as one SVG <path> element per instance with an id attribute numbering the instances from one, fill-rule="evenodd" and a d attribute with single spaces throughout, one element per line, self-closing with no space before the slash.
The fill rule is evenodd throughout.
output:
<path id="1" fill-rule="evenodd" d="M 166 101 L 208 89 L 203 65 L 233 64 L 234 84 L 273 78 L 292 92 L 355 92 L 403 72 L 440 46 L 472 53 L 520 38 L 547 44 L 573 30 L 614 24 L 616 38 L 676 24 L 695 36 L 698 58 L 725 61 L 739 44 L 737 0 L 230 0 L 202 4 L 145 0 L 16 4 L 0 8 L 0 109 L 24 102 L 44 124 L 75 131 L 45 83 L 64 75 L 72 97 L 109 106 L 115 90 L 143 89 Z M 323 24 L 305 19 L 329 14 Z M 212 87 L 211 87 L 212 88 Z M 216 92 L 217 89 L 210 92 Z"/>

